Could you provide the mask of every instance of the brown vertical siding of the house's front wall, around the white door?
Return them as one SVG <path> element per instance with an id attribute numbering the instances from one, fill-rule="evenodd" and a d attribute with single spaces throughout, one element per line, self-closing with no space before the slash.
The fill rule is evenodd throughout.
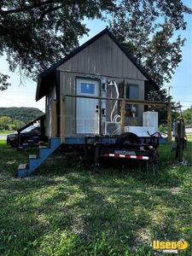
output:
<path id="1" fill-rule="evenodd" d="M 60 71 L 60 92 L 62 95 L 76 94 L 76 80 L 98 79 L 114 80 L 117 84 L 137 84 L 138 98 L 144 99 L 144 81 L 146 80 L 138 68 L 119 49 L 118 45 L 109 38 L 108 34 L 98 38 L 57 68 Z M 116 97 L 115 89 L 109 88 L 108 97 Z M 112 101 L 107 103 L 107 120 L 113 108 Z M 137 109 L 137 123 L 142 125 L 143 107 Z M 76 133 L 76 99 L 66 97 L 66 136 L 75 136 Z M 125 119 L 125 125 L 131 125 L 131 118 Z"/>

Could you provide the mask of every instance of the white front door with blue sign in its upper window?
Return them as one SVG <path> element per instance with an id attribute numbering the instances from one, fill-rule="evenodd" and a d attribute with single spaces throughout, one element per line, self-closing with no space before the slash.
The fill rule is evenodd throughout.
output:
<path id="1" fill-rule="evenodd" d="M 99 82 L 77 79 L 78 96 L 99 96 Z M 76 100 L 76 131 L 80 134 L 99 134 L 99 100 L 79 98 Z"/>

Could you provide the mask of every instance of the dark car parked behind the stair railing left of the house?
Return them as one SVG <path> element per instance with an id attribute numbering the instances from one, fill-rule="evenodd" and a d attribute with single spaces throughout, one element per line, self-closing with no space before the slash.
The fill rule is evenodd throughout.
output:
<path id="1" fill-rule="evenodd" d="M 37 126 L 29 126 L 25 130 L 20 132 L 20 145 L 23 143 L 38 143 L 41 141 L 41 131 L 40 127 Z M 7 136 L 7 143 L 9 143 L 12 147 L 17 147 L 19 144 L 18 141 L 18 133 L 12 133 Z"/>

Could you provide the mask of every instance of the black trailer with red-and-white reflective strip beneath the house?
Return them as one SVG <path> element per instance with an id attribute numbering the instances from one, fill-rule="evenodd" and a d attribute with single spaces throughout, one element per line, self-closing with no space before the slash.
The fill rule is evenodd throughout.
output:
<path id="1" fill-rule="evenodd" d="M 89 165 L 101 166 L 102 160 L 125 160 L 145 162 L 147 171 L 153 170 L 159 160 L 158 147 L 160 133 L 137 137 L 132 132 L 125 132 L 116 137 L 79 137 L 66 138 L 62 150 L 78 151 Z"/>

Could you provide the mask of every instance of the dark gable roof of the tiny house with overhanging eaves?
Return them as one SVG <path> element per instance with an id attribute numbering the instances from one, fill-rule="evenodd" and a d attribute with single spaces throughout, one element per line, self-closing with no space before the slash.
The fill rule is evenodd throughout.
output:
<path id="1" fill-rule="evenodd" d="M 90 38 L 90 40 L 88 40 L 87 42 L 85 42 L 84 44 L 79 46 L 77 49 L 74 49 L 70 54 L 66 55 L 60 61 L 56 62 L 54 65 L 52 65 L 51 67 L 46 69 L 44 72 L 42 72 L 38 75 L 38 87 L 37 87 L 37 91 L 36 91 L 36 101 L 40 100 L 45 95 L 44 91 L 47 89 L 47 88 L 45 88 L 47 85 L 45 80 L 48 76 L 51 76 L 53 79 L 53 74 L 55 73 L 55 70 L 57 67 L 60 67 L 63 63 L 65 63 L 66 61 L 71 59 L 74 55 L 77 55 L 81 50 L 83 50 L 84 48 L 86 48 L 87 46 L 89 46 L 90 44 L 95 42 L 98 38 L 101 38 L 104 34 L 108 34 L 109 38 L 111 38 L 113 40 L 113 42 L 119 46 L 119 49 L 121 49 L 125 53 L 125 55 L 131 60 L 131 62 L 139 69 L 139 71 L 141 73 L 143 73 L 143 76 L 146 79 L 148 79 L 150 84 L 153 85 L 154 89 L 159 90 L 159 86 L 154 82 L 153 79 L 151 79 L 151 77 L 144 70 L 144 68 L 140 64 L 138 64 L 136 58 L 133 55 L 131 55 L 131 53 L 127 49 L 125 49 L 125 47 L 122 44 L 119 43 L 119 41 L 113 36 L 113 33 L 110 32 L 108 30 L 108 28 L 105 28 L 104 30 L 102 30 L 102 32 L 99 32 L 98 34 L 96 34 L 95 37 Z M 50 79 L 49 79 L 49 81 L 50 81 Z"/>

